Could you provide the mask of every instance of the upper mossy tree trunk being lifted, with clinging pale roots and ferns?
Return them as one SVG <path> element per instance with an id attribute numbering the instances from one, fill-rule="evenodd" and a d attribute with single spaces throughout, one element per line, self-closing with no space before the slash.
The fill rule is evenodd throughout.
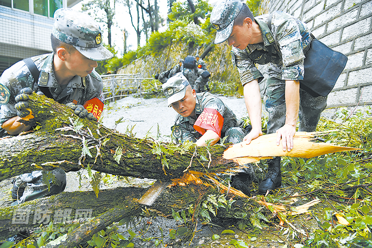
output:
<path id="1" fill-rule="evenodd" d="M 139 139 L 78 119 L 68 107 L 45 96 L 33 93 L 29 103 L 35 117 L 23 122 L 40 128 L 1 139 L 0 180 L 55 166 L 70 171 L 89 165 L 113 175 L 163 180 L 180 178 L 191 160 L 195 171 L 217 172 L 236 166 L 222 158 L 224 146 L 215 145 L 207 151 Z"/>

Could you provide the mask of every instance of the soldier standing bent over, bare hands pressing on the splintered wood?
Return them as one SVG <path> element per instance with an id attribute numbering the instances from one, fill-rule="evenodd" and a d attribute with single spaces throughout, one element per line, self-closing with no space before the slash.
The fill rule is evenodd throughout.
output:
<path id="1" fill-rule="evenodd" d="M 238 68 L 252 131 L 244 137 L 249 144 L 262 135 L 261 98 L 258 82 L 263 79 L 256 64 L 266 65 L 268 75 L 264 94 L 269 113 L 267 133 L 277 133 L 283 151 L 293 148 L 297 117 L 299 131 L 315 131 L 326 108 L 326 96 L 313 97 L 300 89 L 303 60 L 313 36 L 305 23 L 284 12 L 254 17 L 238 0 L 221 0 L 212 10 L 210 22 L 217 30 L 214 43 L 228 41 L 232 64 Z M 271 27 L 270 27 L 271 26 Z M 267 193 L 281 184 L 280 157 L 268 159 L 268 173 L 258 191 Z"/>

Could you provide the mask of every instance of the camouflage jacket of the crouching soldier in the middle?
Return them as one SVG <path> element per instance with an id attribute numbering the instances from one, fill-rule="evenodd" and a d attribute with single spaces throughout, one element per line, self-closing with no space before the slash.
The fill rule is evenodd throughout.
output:
<path id="1" fill-rule="evenodd" d="M 242 122 L 236 118 L 232 110 L 217 96 L 209 92 L 197 93 L 195 106 L 196 118 L 200 116 L 205 108 L 218 111 L 218 113 L 220 113 L 224 118 L 221 137 L 224 137 L 227 129 L 231 127 L 239 127 L 242 124 Z M 181 143 L 185 142 L 186 140 L 196 142 L 196 140 L 202 135 L 194 129 L 193 125 L 195 122 L 196 120 L 190 116 L 183 117 L 182 115 L 178 114 L 175 118 L 174 126 L 171 127 L 173 137 L 176 138 L 177 141 L 180 139 Z"/>

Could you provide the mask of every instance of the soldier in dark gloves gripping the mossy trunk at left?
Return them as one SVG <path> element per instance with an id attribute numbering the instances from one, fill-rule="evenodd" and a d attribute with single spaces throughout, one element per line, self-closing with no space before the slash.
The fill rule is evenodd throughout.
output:
<path id="1" fill-rule="evenodd" d="M 101 44 L 102 31 L 89 15 L 67 8 L 58 9 L 54 20 L 53 53 L 32 57 L 28 60 L 31 66 L 20 61 L 1 75 L 0 93 L 5 100 L 0 101 L 0 137 L 31 129 L 18 120 L 33 118 L 27 102 L 27 94 L 32 91 L 66 104 L 81 118 L 96 121 L 101 115 L 103 84 L 94 68 L 97 61 L 113 56 Z M 17 201 L 12 205 L 62 192 L 66 186 L 66 173 L 61 168 L 54 169 L 48 180 L 50 190 L 42 171 L 17 176 L 12 189 L 13 199 Z"/>

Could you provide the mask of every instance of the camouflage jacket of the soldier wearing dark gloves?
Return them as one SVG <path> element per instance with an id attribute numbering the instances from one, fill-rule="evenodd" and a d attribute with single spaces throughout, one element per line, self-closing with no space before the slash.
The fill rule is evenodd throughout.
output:
<path id="1" fill-rule="evenodd" d="M 23 61 L 16 63 L 2 73 L 0 84 L 9 89 L 10 97 L 7 104 L 1 105 L 0 124 L 17 115 L 17 110 L 14 108 L 16 104 L 14 97 L 19 94 L 20 90 L 27 87 L 35 91 L 40 91 L 39 86 L 47 87 L 53 99 L 61 101 L 62 104 L 74 102 L 83 105 L 94 97 L 97 97 L 102 103 L 104 102 L 102 78 L 95 70 L 85 78 L 73 77 L 66 88 L 62 90 L 54 76 L 53 55 L 50 53 L 31 58 L 41 71 L 38 83 L 34 83 L 34 78 Z"/>

